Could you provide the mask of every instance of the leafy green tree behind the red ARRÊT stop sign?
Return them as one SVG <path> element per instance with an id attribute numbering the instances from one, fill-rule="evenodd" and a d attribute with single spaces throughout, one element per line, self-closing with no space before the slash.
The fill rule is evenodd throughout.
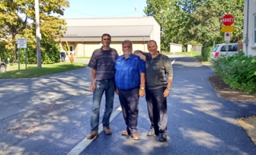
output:
<path id="1" fill-rule="evenodd" d="M 233 14 L 235 30 L 231 42 L 242 39 L 243 30 L 243 2 L 241 0 L 202 0 L 183 1 L 186 5 L 183 10 L 190 14 L 187 29 L 190 38 L 194 38 L 203 45 L 212 45 L 213 41 L 224 42 L 221 32 L 222 16 Z"/>

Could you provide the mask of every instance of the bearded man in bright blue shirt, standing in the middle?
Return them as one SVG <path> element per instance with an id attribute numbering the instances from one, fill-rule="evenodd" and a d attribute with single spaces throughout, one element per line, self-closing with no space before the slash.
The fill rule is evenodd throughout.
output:
<path id="1" fill-rule="evenodd" d="M 126 121 L 126 130 L 122 135 L 130 135 L 134 140 L 138 136 L 138 98 L 145 94 L 145 62 L 133 54 L 132 42 L 122 42 L 123 55 L 115 61 L 116 93 L 122 107 L 122 114 Z"/>

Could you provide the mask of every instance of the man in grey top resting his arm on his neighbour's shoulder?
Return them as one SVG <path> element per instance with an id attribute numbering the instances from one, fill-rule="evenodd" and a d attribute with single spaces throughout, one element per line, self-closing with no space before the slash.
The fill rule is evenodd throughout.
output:
<path id="1" fill-rule="evenodd" d="M 170 59 L 158 51 L 154 40 L 147 42 L 149 53 L 135 50 L 134 54 L 146 60 L 146 102 L 151 122 L 147 136 L 159 136 L 159 141 L 167 140 L 167 101 L 173 82 L 173 68 Z M 167 78 L 166 78 L 167 77 Z"/>

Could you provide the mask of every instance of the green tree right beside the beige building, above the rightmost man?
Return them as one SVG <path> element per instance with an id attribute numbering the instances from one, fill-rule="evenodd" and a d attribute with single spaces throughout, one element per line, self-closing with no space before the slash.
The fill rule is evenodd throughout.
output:
<path id="1" fill-rule="evenodd" d="M 188 42 L 186 26 L 189 16 L 182 10 L 182 0 L 147 0 L 144 10 L 147 16 L 153 16 L 161 26 L 162 50 L 168 50 L 170 42 L 185 44 Z"/>

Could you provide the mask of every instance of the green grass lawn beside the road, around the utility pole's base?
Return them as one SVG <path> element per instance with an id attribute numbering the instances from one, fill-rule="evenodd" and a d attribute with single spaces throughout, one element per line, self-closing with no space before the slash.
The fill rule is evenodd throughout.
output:
<path id="1" fill-rule="evenodd" d="M 42 64 L 41 69 L 38 68 L 37 64 L 28 64 L 26 69 L 26 65 L 21 64 L 20 70 L 18 70 L 18 64 L 14 64 L 10 65 L 10 68 L 7 65 L 6 72 L 0 73 L 0 78 L 35 78 L 42 75 L 57 74 L 68 70 L 75 70 L 85 66 L 86 65 L 83 63 L 60 62 L 55 64 Z"/>

